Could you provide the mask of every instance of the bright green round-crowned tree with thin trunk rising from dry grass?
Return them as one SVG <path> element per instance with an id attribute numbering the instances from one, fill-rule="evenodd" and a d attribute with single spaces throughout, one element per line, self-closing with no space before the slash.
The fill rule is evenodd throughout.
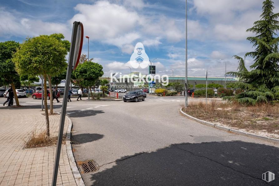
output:
<path id="1" fill-rule="evenodd" d="M 56 38 L 40 35 L 23 42 L 12 60 L 20 75 L 42 74 L 45 79 L 44 90 L 47 90 L 47 75 L 56 75 L 65 68 L 66 55 L 67 49 Z M 44 98 L 47 98 L 47 91 L 44 91 Z M 44 107 L 46 134 L 49 136 L 47 99 L 44 99 Z"/>

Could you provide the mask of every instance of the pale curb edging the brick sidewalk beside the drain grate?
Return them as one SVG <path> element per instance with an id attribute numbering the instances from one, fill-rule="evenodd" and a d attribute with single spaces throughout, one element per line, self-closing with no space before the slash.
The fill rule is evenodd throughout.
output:
<path id="1" fill-rule="evenodd" d="M 71 145 L 71 129 L 72 129 L 72 120 L 66 116 L 66 118 L 68 119 L 68 122 L 69 122 L 69 126 L 68 126 L 68 129 L 67 129 L 67 135 L 66 135 L 66 150 L 67 150 L 67 154 L 68 154 L 68 159 L 69 159 L 69 163 L 70 163 L 70 167 L 72 169 L 72 173 L 74 175 L 74 178 L 75 178 L 75 181 L 77 183 L 77 185 L 84 185 L 84 182 L 82 180 L 82 177 L 79 173 L 79 170 L 77 168 L 77 164 L 76 164 L 76 160 L 75 160 L 75 157 L 73 155 L 73 152 L 72 152 L 72 145 Z"/>

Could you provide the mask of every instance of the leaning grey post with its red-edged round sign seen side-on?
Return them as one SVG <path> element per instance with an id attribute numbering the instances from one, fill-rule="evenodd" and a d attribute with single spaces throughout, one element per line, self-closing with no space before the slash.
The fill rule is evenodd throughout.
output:
<path id="1" fill-rule="evenodd" d="M 56 155 L 55 155 L 55 162 L 54 162 L 54 169 L 53 169 L 53 176 L 52 176 L 52 186 L 55 186 L 57 181 L 57 173 L 58 173 L 59 158 L 60 158 L 61 145 L 62 145 L 62 136 L 63 136 L 64 123 L 65 123 L 67 98 L 68 98 L 71 74 L 72 74 L 72 70 L 75 70 L 77 68 L 81 50 L 82 50 L 82 41 L 83 41 L 83 25 L 81 22 L 75 21 L 73 23 L 73 29 L 72 29 L 71 48 L 70 48 L 69 59 L 68 59 L 68 68 L 67 68 L 62 111 L 61 111 L 60 124 L 59 124 Z"/>

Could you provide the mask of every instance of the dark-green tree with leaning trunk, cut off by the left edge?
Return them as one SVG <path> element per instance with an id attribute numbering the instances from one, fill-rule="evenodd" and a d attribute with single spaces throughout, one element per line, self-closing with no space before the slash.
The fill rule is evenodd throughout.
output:
<path id="1" fill-rule="evenodd" d="M 17 107 L 19 107 L 19 101 L 16 94 L 16 87 L 18 84 L 20 86 L 20 78 L 16 72 L 12 57 L 18 48 L 19 43 L 15 41 L 0 43 L 0 82 L 4 85 L 10 84 L 12 86 Z"/>

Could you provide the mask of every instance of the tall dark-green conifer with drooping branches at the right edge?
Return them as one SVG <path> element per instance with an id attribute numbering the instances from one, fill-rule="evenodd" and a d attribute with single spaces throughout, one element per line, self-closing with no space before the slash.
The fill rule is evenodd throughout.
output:
<path id="1" fill-rule="evenodd" d="M 247 38 L 255 47 L 255 51 L 245 54 L 245 57 L 249 56 L 254 59 L 254 64 L 250 66 L 252 70 L 247 70 L 243 58 L 233 56 L 239 63 L 238 72 L 227 74 L 237 76 L 239 82 L 233 87 L 244 90 L 235 97 L 239 103 L 267 103 L 279 99 L 279 38 L 275 37 L 279 31 L 277 21 L 279 13 L 273 13 L 273 9 L 271 0 L 264 1 L 261 20 L 256 21 L 252 28 L 247 29 L 247 32 L 256 34 L 255 37 Z M 223 99 L 232 100 L 229 97 Z"/>

